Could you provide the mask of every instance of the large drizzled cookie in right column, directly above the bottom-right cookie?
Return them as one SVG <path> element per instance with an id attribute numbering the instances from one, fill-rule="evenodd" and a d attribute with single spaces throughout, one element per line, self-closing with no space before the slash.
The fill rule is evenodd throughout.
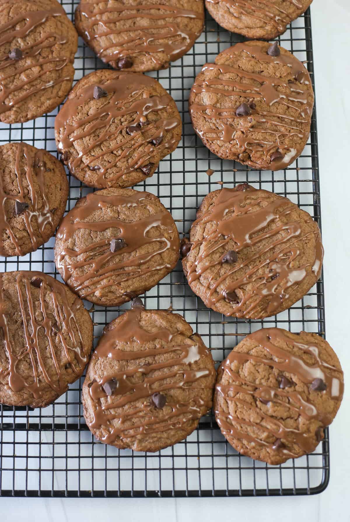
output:
<path id="1" fill-rule="evenodd" d="M 285 197 L 247 183 L 209 193 L 197 211 L 182 266 L 205 305 L 263 319 L 299 301 L 321 275 L 318 224 Z"/>

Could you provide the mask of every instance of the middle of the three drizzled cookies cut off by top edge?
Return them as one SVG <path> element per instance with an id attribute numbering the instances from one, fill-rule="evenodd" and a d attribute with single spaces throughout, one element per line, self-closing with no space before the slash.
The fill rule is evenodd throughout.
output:
<path id="1" fill-rule="evenodd" d="M 75 27 L 115 69 L 166 69 L 203 31 L 203 0 L 81 0 Z"/>

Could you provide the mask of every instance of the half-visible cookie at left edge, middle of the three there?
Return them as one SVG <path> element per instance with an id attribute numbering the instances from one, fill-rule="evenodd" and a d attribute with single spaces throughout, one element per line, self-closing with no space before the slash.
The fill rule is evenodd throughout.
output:
<path id="1" fill-rule="evenodd" d="M 68 198 L 63 165 L 26 143 L 0 146 L 0 255 L 24 256 L 54 235 Z"/>

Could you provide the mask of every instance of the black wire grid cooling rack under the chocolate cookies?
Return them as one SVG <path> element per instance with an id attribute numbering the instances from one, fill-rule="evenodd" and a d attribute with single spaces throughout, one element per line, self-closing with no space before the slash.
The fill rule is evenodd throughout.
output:
<path id="1" fill-rule="evenodd" d="M 62 1 L 69 17 L 77 2 Z M 183 121 L 182 141 L 161 161 L 157 173 L 135 188 L 160 197 L 176 220 L 180 234 L 188 232 L 202 198 L 220 185 L 247 181 L 289 197 L 320 224 L 316 114 L 302 155 L 288 169 L 256 171 L 212 155 L 195 136 L 188 114 L 189 90 L 205 62 L 242 38 L 221 29 L 207 15 L 205 31 L 194 48 L 169 69 L 150 73 L 176 100 Z M 313 81 L 310 10 L 288 27 L 281 45 L 305 61 Z M 79 40 L 76 77 L 102 68 L 94 53 Z M 0 143 L 27 141 L 56 154 L 54 118 L 57 110 L 25 124 L 0 124 Z M 206 171 L 215 172 L 208 176 Z M 69 175 L 67 210 L 91 191 Z M 32 269 L 60 278 L 53 262 L 54 238 L 24 257 L 0 258 L 0 270 Z M 190 290 L 179 264 L 144 298 L 147 309 L 182 314 L 211 348 L 217 363 L 251 331 L 263 326 L 301 329 L 324 336 L 322 279 L 291 309 L 264 321 L 225 318 L 206 309 Z M 128 305 L 103 308 L 85 303 L 94 321 L 95 343 L 104 325 Z M 185 441 L 158 453 L 134 453 L 96 442 L 87 429 L 80 402 L 81 381 L 43 409 L 0 407 L 0 495 L 34 497 L 178 497 L 299 495 L 323 491 L 329 481 L 329 438 L 316 451 L 281 466 L 269 466 L 239 455 L 224 437 L 212 415 Z"/>

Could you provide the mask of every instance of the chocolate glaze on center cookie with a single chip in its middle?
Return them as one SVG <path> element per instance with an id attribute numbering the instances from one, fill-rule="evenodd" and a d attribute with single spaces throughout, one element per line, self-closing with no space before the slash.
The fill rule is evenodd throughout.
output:
<path id="1" fill-rule="evenodd" d="M 115 252 L 111 251 L 110 239 L 94 241 L 78 251 L 70 248 L 64 248 L 62 250 L 57 256 L 57 268 L 63 271 L 64 281 L 68 281 L 68 279 L 71 278 L 72 272 L 75 272 L 76 269 L 92 265 L 86 274 L 80 276 L 74 274 L 74 277 L 69 281 L 70 284 L 74 284 L 76 291 L 84 290 L 84 297 L 86 297 L 96 291 L 96 288 L 85 290 L 90 287 L 91 279 L 94 283 L 105 281 L 98 286 L 99 289 L 102 289 L 122 281 L 133 279 L 134 277 L 146 275 L 151 271 L 169 267 L 167 263 L 162 262 L 153 268 L 142 268 L 151 258 L 161 255 L 169 248 L 173 251 L 178 250 L 178 236 L 174 233 L 173 220 L 168 212 L 159 212 L 154 215 L 149 215 L 137 222 L 130 223 L 118 219 L 98 222 L 85 221 L 92 213 L 101 207 L 108 205 L 115 207 L 139 207 L 148 205 L 153 199 L 157 199 L 156 196 L 148 194 L 146 198 L 143 192 L 137 192 L 129 196 L 106 196 L 99 192 L 94 192 L 88 194 L 86 199 L 87 202 L 85 205 L 75 207 L 69 212 L 71 220 L 64 220 L 62 222 L 57 230 L 57 237 L 63 240 L 72 238 L 74 232 L 79 229 L 102 232 L 109 228 L 118 228 L 121 232 L 120 235 L 115 236 L 115 240 L 118 241 L 118 239 L 122 238 L 123 242 L 120 250 L 116 250 Z M 165 232 L 159 232 L 159 235 L 152 238 L 147 237 L 146 233 L 153 227 L 166 228 L 169 237 L 166 237 Z M 143 245 L 151 243 L 159 243 L 157 250 L 146 254 L 139 254 L 126 260 L 120 260 L 122 254 L 135 252 Z M 65 256 L 83 257 L 79 260 L 77 259 L 75 263 L 65 265 L 63 262 Z M 115 259 L 115 262 L 112 265 L 104 266 L 110 259 Z"/>

